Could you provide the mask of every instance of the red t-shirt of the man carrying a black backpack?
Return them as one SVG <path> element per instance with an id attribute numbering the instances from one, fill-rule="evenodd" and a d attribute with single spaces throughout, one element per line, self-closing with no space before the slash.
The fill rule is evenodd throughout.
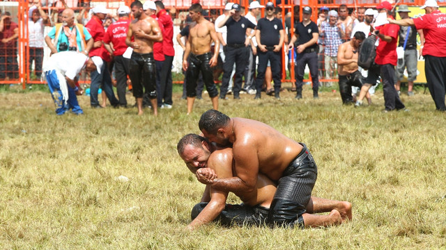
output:
<path id="1" fill-rule="evenodd" d="M 379 28 L 379 32 L 383 35 L 390 36 L 392 38 L 392 42 L 385 42 L 381 39 L 379 40 L 378 47 L 376 48 L 375 63 L 378 65 L 391 64 L 397 66 L 397 42 L 399 25 L 385 24 Z"/>

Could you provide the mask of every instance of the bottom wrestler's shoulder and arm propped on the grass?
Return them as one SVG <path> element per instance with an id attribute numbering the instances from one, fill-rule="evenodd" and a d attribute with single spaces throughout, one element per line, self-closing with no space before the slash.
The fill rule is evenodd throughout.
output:
<path id="1" fill-rule="evenodd" d="M 229 149 L 229 151 L 231 151 L 231 149 Z M 229 154 L 225 153 L 225 151 L 215 151 L 209 156 L 208 167 L 214 169 L 219 176 L 230 177 L 232 176 L 232 161 L 228 160 L 228 158 Z M 206 189 L 208 189 L 208 187 L 206 187 Z M 203 224 L 212 222 L 224 210 L 228 192 L 213 187 L 210 187 L 209 191 L 210 201 L 206 207 L 203 208 L 201 213 L 187 226 L 187 229 L 194 230 Z"/>

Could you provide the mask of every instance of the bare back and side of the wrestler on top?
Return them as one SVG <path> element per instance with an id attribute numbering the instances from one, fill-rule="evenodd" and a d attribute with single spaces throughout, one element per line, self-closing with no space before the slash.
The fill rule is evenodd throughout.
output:
<path id="1" fill-rule="evenodd" d="M 237 168 L 238 156 L 251 151 L 254 153 L 252 157 L 256 154 L 259 161 L 259 173 L 265 174 L 272 181 L 277 181 L 282 177 L 284 169 L 302 151 L 301 144 L 287 138 L 267 124 L 240 117 L 233 118 L 233 121 L 233 131 L 236 136 L 233 142 L 236 173 L 241 173 Z M 249 172 L 251 166 L 245 164 L 243 167 L 248 167 L 245 171 Z"/>

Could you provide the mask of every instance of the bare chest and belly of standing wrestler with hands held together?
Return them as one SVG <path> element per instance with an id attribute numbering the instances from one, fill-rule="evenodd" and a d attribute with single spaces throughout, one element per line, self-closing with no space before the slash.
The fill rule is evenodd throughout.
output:
<path id="1" fill-rule="evenodd" d="M 137 44 L 137 46 L 133 47 L 133 51 L 137 53 L 151 53 L 153 51 L 153 41 L 148 40 L 146 38 L 137 38 L 138 32 L 144 32 L 148 35 L 152 35 L 152 24 L 151 24 L 152 17 L 146 17 L 145 19 L 141 20 L 133 20 L 133 22 L 130 24 L 130 29 L 132 30 L 133 38 L 134 38 L 134 44 Z"/>

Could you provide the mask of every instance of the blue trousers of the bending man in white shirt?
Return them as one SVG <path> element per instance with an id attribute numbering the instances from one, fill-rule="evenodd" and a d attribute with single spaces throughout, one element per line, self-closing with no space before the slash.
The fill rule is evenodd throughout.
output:
<path id="1" fill-rule="evenodd" d="M 61 85 L 54 69 L 45 72 L 45 77 L 47 78 L 49 92 L 51 92 L 54 104 L 56 104 L 57 115 L 63 115 L 70 109 L 72 110 L 72 113 L 75 113 L 76 115 L 84 113 L 77 102 L 75 90 L 71 88 L 68 83 L 66 83 L 68 86 L 68 101 L 67 103 L 63 101 Z"/>

